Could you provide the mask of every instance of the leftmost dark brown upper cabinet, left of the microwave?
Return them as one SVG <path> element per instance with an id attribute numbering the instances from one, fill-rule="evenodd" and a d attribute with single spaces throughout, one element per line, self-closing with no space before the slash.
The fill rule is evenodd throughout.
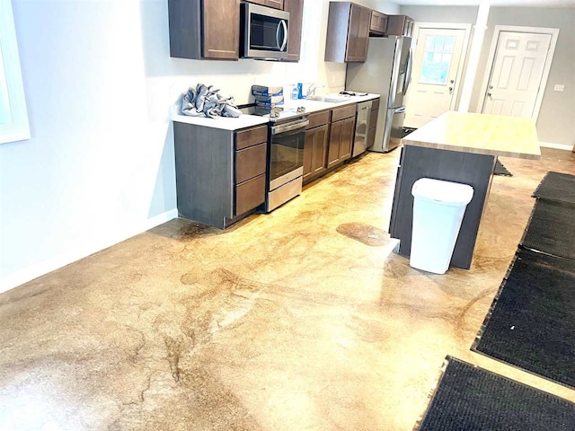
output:
<path id="1" fill-rule="evenodd" d="M 168 0 L 170 56 L 237 60 L 240 0 Z"/>

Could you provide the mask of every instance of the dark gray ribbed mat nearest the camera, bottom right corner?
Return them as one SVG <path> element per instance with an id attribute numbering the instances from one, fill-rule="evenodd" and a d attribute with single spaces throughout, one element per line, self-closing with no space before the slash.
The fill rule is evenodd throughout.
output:
<path id="1" fill-rule="evenodd" d="M 420 430 L 572 431 L 575 404 L 447 356 Z"/>

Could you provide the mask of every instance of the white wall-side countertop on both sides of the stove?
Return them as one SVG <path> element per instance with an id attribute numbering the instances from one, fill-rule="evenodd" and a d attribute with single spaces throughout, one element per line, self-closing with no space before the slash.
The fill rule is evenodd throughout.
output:
<path id="1" fill-rule="evenodd" d="M 340 94 L 338 94 L 340 96 Z M 319 110 L 331 110 L 332 108 L 339 108 L 341 106 L 349 105 L 352 103 L 359 103 L 362 101 L 371 101 L 378 99 L 379 94 L 369 93 L 366 96 L 349 96 L 345 101 L 308 101 L 305 99 L 286 99 L 282 106 L 286 108 L 296 108 L 304 106 L 306 113 L 316 112 Z M 252 128 L 267 124 L 269 119 L 267 117 L 260 117 L 257 115 L 241 115 L 236 119 L 227 117 L 218 117 L 217 119 L 208 119 L 207 117 L 188 117 L 181 115 L 177 106 L 174 105 L 172 110 L 172 120 L 180 123 L 193 124 L 196 126 L 203 126 L 206 128 L 221 128 L 224 130 L 238 130 L 240 128 Z"/>

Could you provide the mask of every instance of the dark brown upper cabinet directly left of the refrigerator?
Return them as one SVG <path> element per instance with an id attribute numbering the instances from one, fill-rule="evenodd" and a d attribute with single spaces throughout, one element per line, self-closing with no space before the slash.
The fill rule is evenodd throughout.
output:
<path id="1" fill-rule="evenodd" d="M 325 61 L 366 61 L 370 22 L 371 9 L 351 2 L 330 2 Z"/>

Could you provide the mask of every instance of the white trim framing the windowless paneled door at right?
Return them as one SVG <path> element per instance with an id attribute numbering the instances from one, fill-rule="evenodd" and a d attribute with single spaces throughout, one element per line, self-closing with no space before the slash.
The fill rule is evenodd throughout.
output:
<path id="1" fill-rule="evenodd" d="M 557 45 L 557 38 L 559 37 L 559 29 L 549 29 L 544 27 L 523 27 L 517 25 L 496 25 L 493 31 L 493 37 L 491 39 L 491 48 L 489 50 L 489 57 L 487 57 L 487 66 L 485 68 L 485 75 L 483 76 L 483 82 L 481 87 L 481 94 L 479 96 L 479 101 L 477 103 L 477 112 L 483 111 L 483 103 L 485 103 L 486 92 L 483 89 L 487 88 L 489 84 L 489 78 L 491 77 L 491 69 L 493 68 L 493 62 L 495 61 L 495 54 L 497 51 L 497 44 L 500 40 L 501 31 L 514 31 L 517 33 L 538 33 L 538 34 L 549 34 L 551 35 L 551 45 L 549 46 L 548 55 L 545 58 L 545 66 L 543 70 L 543 75 L 541 75 L 541 84 L 539 85 L 539 91 L 537 92 L 537 98 L 535 99 L 535 107 L 533 110 L 532 119 L 537 120 L 539 117 L 539 110 L 541 110 L 541 103 L 543 102 L 543 96 L 545 92 L 545 87 L 547 86 L 547 78 L 549 78 L 549 71 L 551 70 L 551 65 L 553 63 L 553 55 L 555 54 L 555 46 Z"/>

